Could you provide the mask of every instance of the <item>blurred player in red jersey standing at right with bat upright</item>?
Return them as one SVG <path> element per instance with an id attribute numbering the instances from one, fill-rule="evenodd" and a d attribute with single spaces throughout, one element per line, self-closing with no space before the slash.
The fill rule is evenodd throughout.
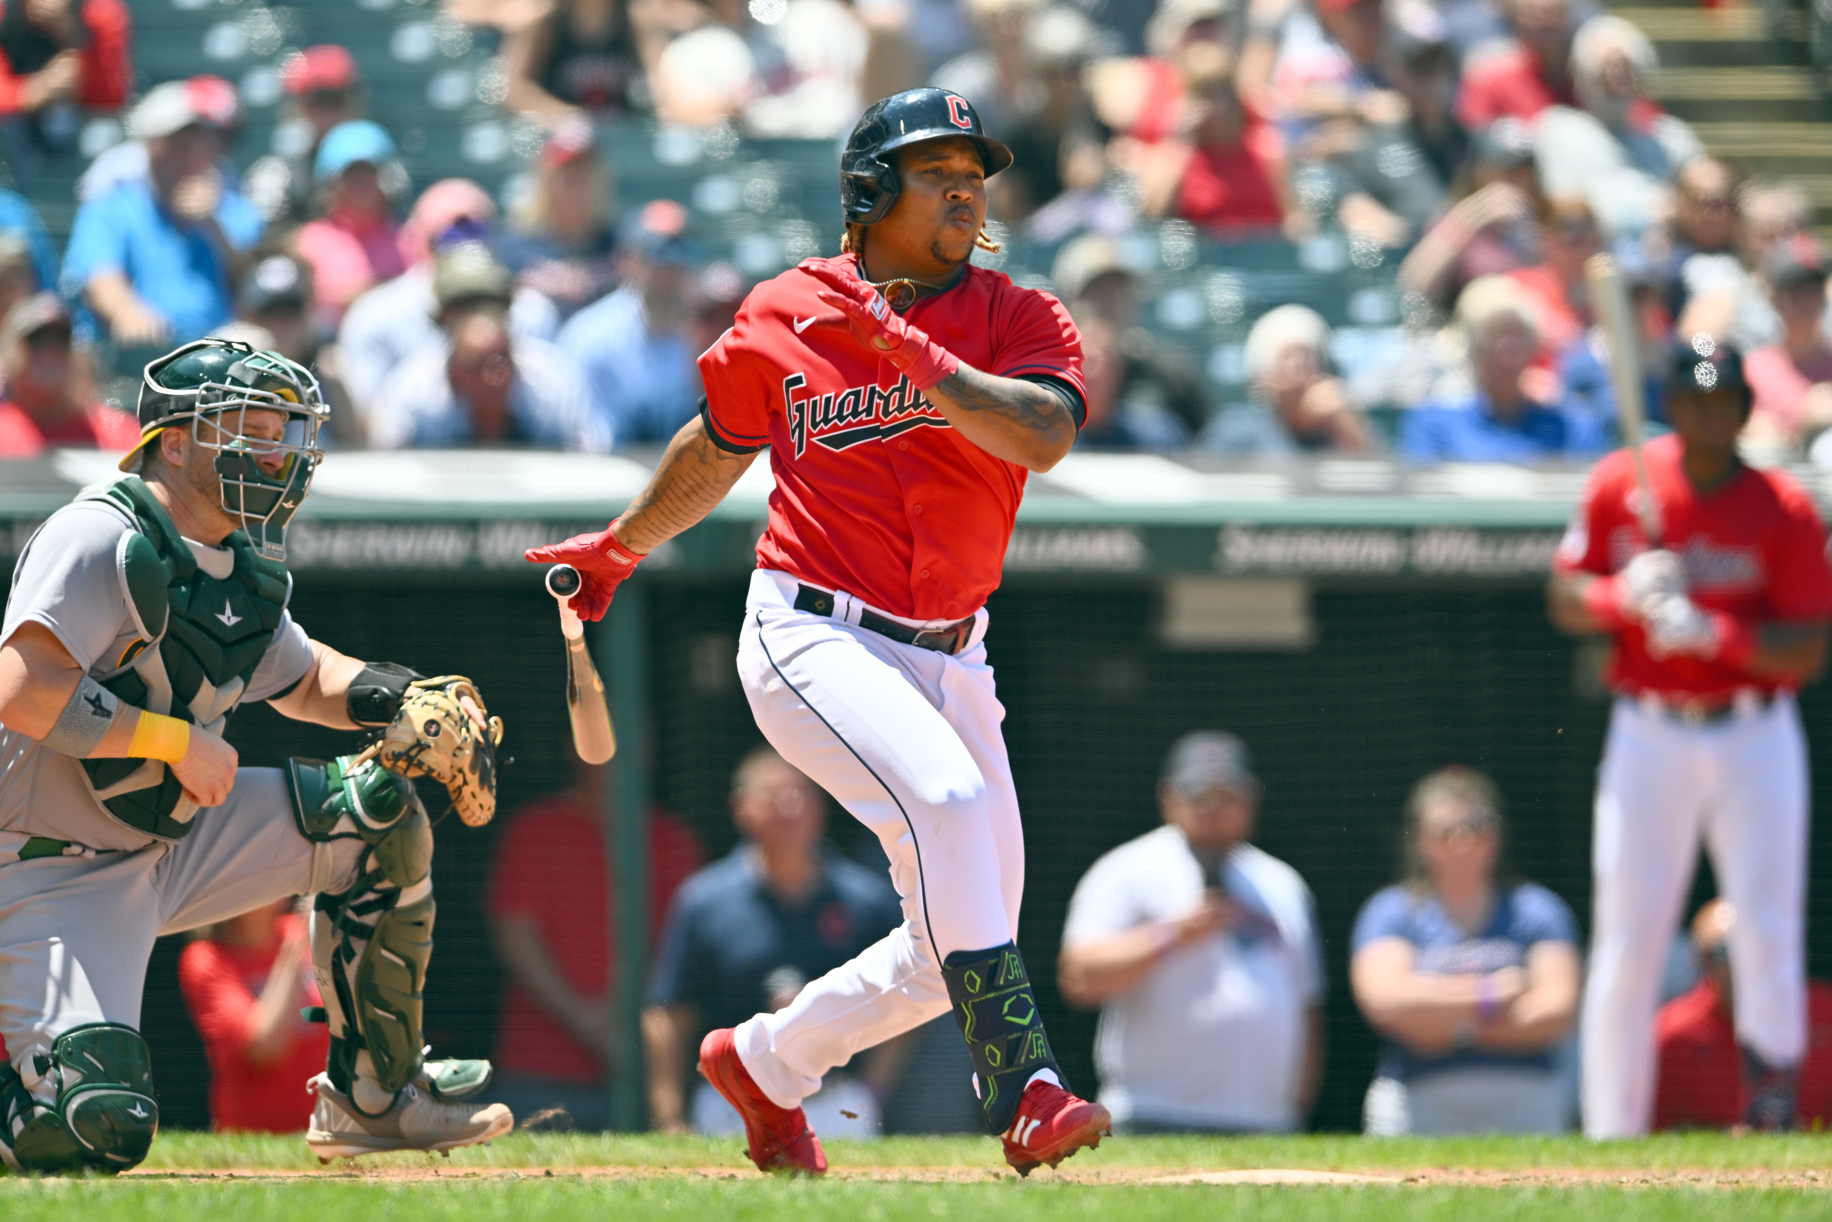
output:
<path id="1" fill-rule="evenodd" d="M 1674 432 L 1643 447 L 1658 537 L 1618 451 L 1590 476 L 1550 590 L 1561 628 L 1616 638 L 1583 1009 L 1592 1138 L 1649 1129 L 1660 969 L 1700 839 L 1737 909 L 1751 1125 L 1792 1125 L 1806 1052 L 1808 780 L 1794 693 L 1825 663 L 1827 533 L 1794 480 L 1737 460 L 1750 388 L 1733 350 L 1693 337 L 1673 363 L 1667 416 Z"/>

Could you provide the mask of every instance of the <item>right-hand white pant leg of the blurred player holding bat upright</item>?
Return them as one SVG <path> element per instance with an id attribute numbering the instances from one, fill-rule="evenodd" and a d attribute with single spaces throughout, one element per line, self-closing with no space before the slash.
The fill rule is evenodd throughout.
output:
<path id="1" fill-rule="evenodd" d="M 1766 1063 L 1806 1053 L 1806 735 L 1792 698 L 1700 731 L 1717 769 L 1706 846 L 1737 909 L 1729 967 L 1737 1039 Z"/>

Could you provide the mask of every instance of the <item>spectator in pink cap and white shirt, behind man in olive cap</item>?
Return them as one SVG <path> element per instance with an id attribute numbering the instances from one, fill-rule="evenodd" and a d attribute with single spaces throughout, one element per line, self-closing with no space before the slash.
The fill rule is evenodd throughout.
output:
<path id="1" fill-rule="evenodd" d="M 368 416 L 394 366 L 440 337 L 438 300 L 432 295 L 434 255 L 445 245 L 489 238 L 495 224 L 495 202 L 467 178 L 436 181 L 414 202 L 399 235 L 407 271 L 350 302 L 337 328 L 343 381 L 359 416 Z M 509 308 L 511 332 L 551 339 L 557 328 L 553 302 L 533 289 L 517 289 Z"/>

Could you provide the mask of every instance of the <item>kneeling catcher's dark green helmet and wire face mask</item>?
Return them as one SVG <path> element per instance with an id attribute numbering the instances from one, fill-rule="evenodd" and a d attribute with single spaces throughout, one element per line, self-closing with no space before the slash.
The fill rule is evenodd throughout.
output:
<path id="1" fill-rule="evenodd" d="M 280 434 L 251 431 L 251 412 L 277 412 Z M 240 518 L 260 555 L 284 561 L 286 526 L 324 458 L 319 429 L 328 416 L 319 381 L 297 361 L 233 339 L 198 339 L 141 374 L 141 438 L 121 469 L 139 471 L 147 443 L 189 420 L 191 440 L 216 451 L 224 511 Z M 269 471 L 262 460 L 273 458 L 280 464 Z"/>

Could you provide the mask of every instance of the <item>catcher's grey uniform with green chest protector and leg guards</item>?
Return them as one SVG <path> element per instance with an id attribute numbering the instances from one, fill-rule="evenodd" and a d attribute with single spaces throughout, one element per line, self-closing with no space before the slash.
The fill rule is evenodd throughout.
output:
<path id="1" fill-rule="evenodd" d="M 284 566 L 245 535 L 220 548 L 185 540 L 125 476 L 33 535 L 0 639 L 44 625 L 121 702 L 220 733 L 236 705 L 284 696 L 310 671 L 289 594 Z M 388 1090 L 421 1075 L 431 843 L 410 782 L 352 773 L 348 758 L 244 768 L 224 804 L 198 810 L 159 760 L 73 758 L 0 733 L 0 1037 L 11 1063 L 0 1063 L 0 1156 L 15 1169 L 137 1163 L 158 1123 L 134 1030 L 154 938 L 291 894 L 322 892 L 313 962 L 332 1083 L 350 1090 L 361 1052 Z M 392 955 L 370 955 L 376 944 Z"/>

